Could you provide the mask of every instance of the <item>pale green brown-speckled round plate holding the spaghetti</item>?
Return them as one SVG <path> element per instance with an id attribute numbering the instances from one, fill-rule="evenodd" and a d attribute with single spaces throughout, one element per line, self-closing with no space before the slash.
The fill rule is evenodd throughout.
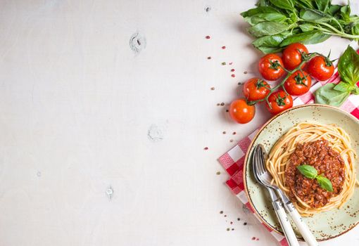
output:
<path id="1" fill-rule="evenodd" d="M 253 147 L 258 143 L 265 145 L 269 153 L 275 142 L 299 122 L 318 122 L 322 124 L 337 124 L 342 127 L 351 136 L 351 142 L 356 153 L 359 153 L 359 121 L 352 115 L 327 105 L 301 105 L 282 112 L 270 119 L 253 139 L 249 146 L 249 151 L 244 161 L 244 187 L 246 195 L 254 211 L 259 215 L 263 222 L 273 230 L 282 233 L 272 209 L 267 190 L 256 183 L 252 173 L 250 158 Z M 355 161 L 355 167 L 358 169 L 358 159 Z M 357 171 L 357 179 L 358 179 Z M 353 197 L 341 207 L 329 212 L 322 212 L 313 217 L 303 218 L 317 240 L 328 240 L 346 233 L 354 228 L 359 221 L 359 188 L 355 188 Z M 294 224 L 294 231 L 298 239 L 302 239 L 300 233 Z"/>

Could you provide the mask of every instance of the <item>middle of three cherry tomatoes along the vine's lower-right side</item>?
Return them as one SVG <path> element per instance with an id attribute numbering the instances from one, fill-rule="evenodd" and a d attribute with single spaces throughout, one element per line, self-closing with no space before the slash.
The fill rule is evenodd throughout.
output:
<path id="1" fill-rule="evenodd" d="M 307 93 L 312 85 L 312 79 L 308 72 L 296 71 L 284 82 L 286 92 L 293 96 L 301 96 Z"/>

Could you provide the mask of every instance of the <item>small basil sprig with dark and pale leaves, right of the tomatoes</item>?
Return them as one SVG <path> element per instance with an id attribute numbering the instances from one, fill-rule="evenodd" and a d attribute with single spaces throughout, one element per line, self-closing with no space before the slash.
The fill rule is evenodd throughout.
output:
<path id="1" fill-rule="evenodd" d="M 339 84 L 329 83 L 315 91 L 315 103 L 339 107 L 351 94 L 359 95 L 359 54 L 351 46 L 339 58 Z"/>

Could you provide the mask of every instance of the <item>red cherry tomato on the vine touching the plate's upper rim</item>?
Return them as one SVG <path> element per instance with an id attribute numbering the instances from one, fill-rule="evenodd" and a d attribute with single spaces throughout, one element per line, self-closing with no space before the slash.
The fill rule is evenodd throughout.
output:
<path id="1" fill-rule="evenodd" d="M 276 91 L 272 93 L 269 98 L 269 105 L 266 103 L 267 109 L 273 115 L 277 115 L 277 113 L 286 110 L 287 108 L 291 108 L 293 106 L 293 98 L 291 95 L 285 93 L 284 91 Z"/>

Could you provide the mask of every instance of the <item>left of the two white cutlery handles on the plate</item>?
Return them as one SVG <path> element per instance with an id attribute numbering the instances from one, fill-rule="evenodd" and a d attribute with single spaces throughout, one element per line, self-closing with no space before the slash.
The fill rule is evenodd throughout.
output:
<path id="1" fill-rule="evenodd" d="M 286 216 L 282 202 L 280 200 L 276 200 L 272 202 L 272 205 L 275 208 L 275 214 L 277 214 L 280 226 L 282 226 L 283 233 L 286 237 L 286 240 L 288 241 L 289 246 L 299 246 L 296 234 L 294 233 L 293 228 L 291 227 L 291 223 Z"/>

